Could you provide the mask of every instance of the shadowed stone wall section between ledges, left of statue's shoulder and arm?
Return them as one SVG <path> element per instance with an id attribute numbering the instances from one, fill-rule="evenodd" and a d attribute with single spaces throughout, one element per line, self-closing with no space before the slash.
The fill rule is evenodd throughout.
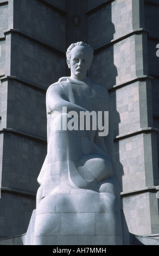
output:
<path id="1" fill-rule="evenodd" d="M 33 120 L 35 120 L 34 123 Z M 8 82 L 7 127 L 31 135 L 38 135 L 43 140 L 46 139 L 46 102 L 44 92 L 10 80 Z"/>

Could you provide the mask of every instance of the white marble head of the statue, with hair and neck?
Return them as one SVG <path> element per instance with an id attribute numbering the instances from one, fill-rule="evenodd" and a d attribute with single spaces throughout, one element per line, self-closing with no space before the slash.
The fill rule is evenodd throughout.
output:
<path id="1" fill-rule="evenodd" d="M 66 52 L 67 65 L 71 69 L 71 77 L 84 80 L 93 59 L 93 48 L 84 42 L 71 44 Z"/>

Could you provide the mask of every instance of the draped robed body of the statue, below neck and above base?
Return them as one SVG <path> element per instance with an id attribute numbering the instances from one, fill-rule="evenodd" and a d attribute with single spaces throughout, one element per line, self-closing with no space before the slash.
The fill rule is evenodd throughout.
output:
<path id="1" fill-rule="evenodd" d="M 37 181 L 40 184 L 37 200 L 50 193 L 72 188 L 99 192 L 101 185 L 112 176 L 112 165 L 104 137 L 97 130 L 56 130 L 62 119 L 62 107 L 69 111 L 109 111 L 106 88 L 87 78 L 86 82 L 62 77 L 52 84 L 46 94 L 47 156 Z M 59 114 L 57 116 L 57 113 Z M 61 118 L 61 119 L 60 119 Z M 79 120 L 80 121 L 80 120 Z M 98 128 L 98 127 L 97 127 Z"/>

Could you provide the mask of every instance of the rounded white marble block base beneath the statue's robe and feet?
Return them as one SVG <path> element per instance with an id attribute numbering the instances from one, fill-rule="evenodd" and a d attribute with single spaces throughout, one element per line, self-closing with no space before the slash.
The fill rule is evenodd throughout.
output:
<path id="1" fill-rule="evenodd" d="M 24 245 L 123 245 L 118 198 L 85 189 L 43 198 L 30 220 Z"/>

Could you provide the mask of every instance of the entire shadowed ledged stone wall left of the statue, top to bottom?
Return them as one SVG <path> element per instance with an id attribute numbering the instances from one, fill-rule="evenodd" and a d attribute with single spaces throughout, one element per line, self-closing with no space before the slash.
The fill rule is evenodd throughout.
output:
<path id="1" fill-rule="evenodd" d="M 46 156 L 46 90 L 65 76 L 65 0 L 0 1 L 0 237 L 26 232 Z"/>

